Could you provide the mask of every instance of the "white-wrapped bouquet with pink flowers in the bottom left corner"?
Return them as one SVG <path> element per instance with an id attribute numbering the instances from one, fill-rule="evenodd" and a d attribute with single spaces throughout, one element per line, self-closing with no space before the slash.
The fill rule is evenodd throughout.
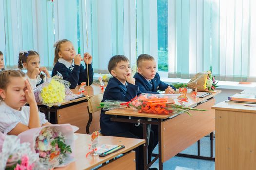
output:
<path id="1" fill-rule="evenodd" d="M 39 162 L 39 154 L 32 152 L 30 143 L 20 143 L 15 135 L 0 132 L 0 170 L 47 170 Z"/>

